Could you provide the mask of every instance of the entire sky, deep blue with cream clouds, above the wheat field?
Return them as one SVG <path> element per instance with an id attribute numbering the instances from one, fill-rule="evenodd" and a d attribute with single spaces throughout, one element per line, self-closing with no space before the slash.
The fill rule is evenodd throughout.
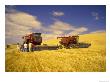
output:
<path id="1" fill-rule="evenodd" d="M 9 40 L 10 29 L 19 28 L 15 27 L 15 24 L 20 25 L 23 31 L 28 28 L 29 32 L 42 32 L 56 36 L 102 32 L 106 29 L 106 7 L 104 5 L 8 5 L 5 10 L 7 42 L 11 40 Z M 28 22 L 32 23 L 28 25 L 26 24 Z M 35 25 L 31 25 L 33 23 Z M 22 35 L 16 35 L 15 38 L 20 36 Z"/>

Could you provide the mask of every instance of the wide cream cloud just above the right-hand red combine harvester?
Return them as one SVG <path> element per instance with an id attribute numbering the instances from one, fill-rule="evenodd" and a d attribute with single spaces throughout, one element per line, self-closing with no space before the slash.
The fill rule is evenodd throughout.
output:
<path id="1" fill-rule="evenodd" d="M 66 31 L 70 31 L 68 35 L 76 35 L 88 31 L 88 28 L 86 27 L 75 27 L 69 23 L 65 23 L 59 20 L 56 20 L 52 25 L 50 25 L 50 29 L 53 30 L 54 34 L 58 35 L 65 35 Z"/>

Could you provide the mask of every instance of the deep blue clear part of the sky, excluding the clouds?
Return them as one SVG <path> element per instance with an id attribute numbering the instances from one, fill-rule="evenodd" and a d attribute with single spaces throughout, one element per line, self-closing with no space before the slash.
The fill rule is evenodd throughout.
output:
<path id="1" fill-rule="evenodd" d="M 16 9 L 37 16 L 46 26 L 56 18 L 75 26 L 87 26 L 91 31 L 105 29 L 105 6 L 16 6 Z M 54 11 L 61 11 L 64 16 L 53 17 Z M 95 20 L 93 12 L 99 14 L 99 20 Z"/>

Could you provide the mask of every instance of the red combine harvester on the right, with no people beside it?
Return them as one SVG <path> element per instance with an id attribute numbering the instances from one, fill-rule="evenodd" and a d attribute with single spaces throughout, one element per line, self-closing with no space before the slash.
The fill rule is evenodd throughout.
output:
<path id="1" fill-rule="evenodd" d="M 68 36 L 68 37 L 57 37 L 61 38 L 59 41 L 60 45 L 59 48 L 88 48 L 91 46 L 90 43 L 79 43 L 79 36 Z"/>

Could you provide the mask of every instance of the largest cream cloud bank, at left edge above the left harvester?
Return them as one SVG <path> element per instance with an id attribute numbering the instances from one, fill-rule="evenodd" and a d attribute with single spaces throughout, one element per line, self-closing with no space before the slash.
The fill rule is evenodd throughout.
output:
<path id="1" fill-rule="evenodd" d="M 6 43 L 19 42 L 22 36 L 31 33 L 32 29 L 41 29 L 42 23 L 37 17 L 28 13 L 12 10 L 5 15 Z"/>

